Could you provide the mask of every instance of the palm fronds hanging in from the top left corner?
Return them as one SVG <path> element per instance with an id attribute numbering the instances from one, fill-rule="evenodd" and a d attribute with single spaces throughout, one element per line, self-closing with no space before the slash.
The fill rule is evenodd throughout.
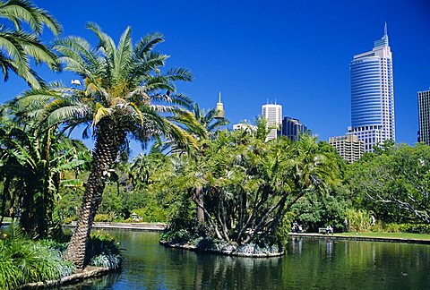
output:
<path id="1" fill-rule="evenodd" d="M 12 71 L 31 87 L 39 88 L 43 81 L 30 68 L 30 57 L 36 64 L 45 63 L 54 71 L 60 69 L 56 55 L 39 38 L 44 26 L 58 35 L 61 32 L 60 24 L 47 11 L 27 0 L 0 0 L 0 18 L 12 24 L 7 26 L 0 22 L 0 68 L 4 81 Z M 28 24 L 30 32 L 22 30 L 23 23 Z"/>

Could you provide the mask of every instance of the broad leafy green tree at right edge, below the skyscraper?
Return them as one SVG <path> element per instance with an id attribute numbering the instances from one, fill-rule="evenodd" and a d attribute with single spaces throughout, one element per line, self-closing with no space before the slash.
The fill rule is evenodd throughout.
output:
<path id="1" fill-rule="evenodd" d="M 387 142 L 348 168 L 359 206 L 387 222 L 430 222 L 430 147 Z"/>

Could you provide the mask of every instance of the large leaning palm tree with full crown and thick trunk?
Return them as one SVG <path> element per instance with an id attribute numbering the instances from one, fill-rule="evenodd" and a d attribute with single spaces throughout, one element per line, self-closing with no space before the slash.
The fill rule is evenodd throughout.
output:
<path id="1" fill-rule="evenodd" d="M 64 129 L 73 130 L 85 124 L 83 134 L 93 132 L 90 175 L 80 219 L 66 252 L 78 269 L 84 266 L 86 244 L 109 169 L 125 148 L 127 135 L 138 141 L 164 135 L 183 145 L 194 142 L 169 120 L 172 115 L 188 114 L 184 107 L 191 107 L 192 102 L 176 93 L 175 81 L 191 81 L 191 74 L 182 68 L 161 73 L 168 55 L 152 48 L 163 41 L 162 35 L 150 34 L 133 46 L 129 27 L 116 46 L 97 24 L 87 27 L 99 38 L 97 47 L 78 37 L 59 39 L 54 46 L 64 70 L 80 76 L 82 87 L 64 88 L 56 83 L 50 90 L 32 90 L 17 100 L 30 115 L 48 125 L 64 124 Z"/>

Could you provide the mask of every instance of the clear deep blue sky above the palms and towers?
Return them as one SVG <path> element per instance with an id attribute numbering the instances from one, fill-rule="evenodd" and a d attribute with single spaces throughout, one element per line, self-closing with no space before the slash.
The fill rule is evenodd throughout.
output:
<path id="1" fill-rule="evenodd" d="M 114 39 L 126 26 L 133 39 L 159 31 L 168 66 L 183 66 L 194 81 L 179 89 L 201 107 L 215 107 L 221 91 L 232 124 L 253 119 L 275 98 L 321 140 L 350 125 L 349 62 L 383 36 L 393 55 L 397 141 L 417 141 L 417 91 L 430 88 L 430 2 L 391 1 L 101 1 L 36 0 L 64 27 L 95 43 L 85 29 L 99 23 Z M 48 32 L 44 38 L 52 39 Z M 70 74 L 45 73 L 47 80 Z M 0 100 L 26 84 L 0 83 Z"/>

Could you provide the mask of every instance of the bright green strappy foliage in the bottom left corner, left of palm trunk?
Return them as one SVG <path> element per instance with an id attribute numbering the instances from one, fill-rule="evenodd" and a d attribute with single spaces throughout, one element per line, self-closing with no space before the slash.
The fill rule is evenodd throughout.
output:
<path id="1" fill-rule="evenodd" d="M 73 264 L 62 259 L 60 250 L 58 243 L 28 239 L 20 226 L 11 224 L 0 239 L 0 287 L 12 289 L 72 274 Z"/>

